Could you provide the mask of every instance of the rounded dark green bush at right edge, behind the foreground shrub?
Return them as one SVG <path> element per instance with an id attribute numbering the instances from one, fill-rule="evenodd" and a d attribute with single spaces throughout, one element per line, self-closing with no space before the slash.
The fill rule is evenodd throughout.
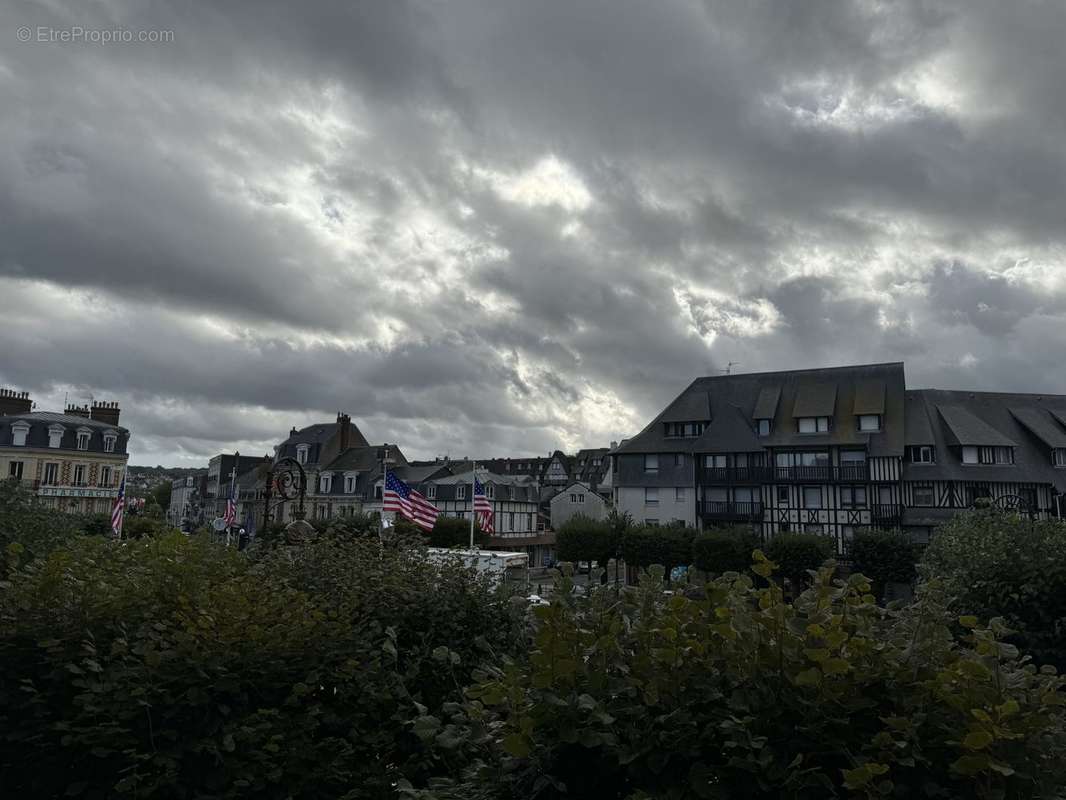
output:
<path id="1" fill-rule="evenodd" d="M 925 577 L 943 580 L 958 608 L 1001 615 L 1012 639 L 1040 662 L 1066 669 L 1066 529 L 996 510 L 960 514 L 934 534 Z"/>

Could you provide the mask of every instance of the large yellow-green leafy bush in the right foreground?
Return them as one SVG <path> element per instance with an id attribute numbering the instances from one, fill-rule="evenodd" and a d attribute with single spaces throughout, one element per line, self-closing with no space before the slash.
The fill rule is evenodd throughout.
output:
<path id="1" fill-rule="evenodd" d="M 449 723 L 481 756 L 433 798 L 1051 798 L 1064 681 L 1004 628 L 901 611 L 831 562 L 794 603 L 756 551 L 698 596 L 641 587 L 535 609 L 528 659 L 484 671 Z M 960 623 L 960 624 L 959 624 Z M 419 721 L 432 733 L 438 721 Z"/>

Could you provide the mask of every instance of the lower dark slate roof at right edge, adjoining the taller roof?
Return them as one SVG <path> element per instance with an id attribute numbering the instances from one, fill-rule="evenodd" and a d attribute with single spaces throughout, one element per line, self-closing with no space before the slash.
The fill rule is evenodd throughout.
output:
<path id="1" fill-rule="evenodd" d="M 958 418 L 964 432 L 953 434 L 938 409 L 962 410 Z M 918 441 L 912 431 L 907 432 L 909 444 L 934 445 L 936 463 L 910 464 L 904 461 L 904 480 L 951 480 L 975 483 L 1006 482 L 1039 484 L 1049 483 L 1066 491 L 1066 469 L 1055 468 L 1049 447 L 1030 432 L 1015 415 L 1021 409 L 1047 410 L 1066 415 L 1066 397 L 1053 395 L 1016 395 L 995 391 L 950 391 L 946 389 L 910 389 L 907 391 L 907 421 L 924 410 L 928 419 L 928 438 Z M 974 420 L 976 420 L 974 422 Z M 990 437 L 989 433 L 974 433 L 965 428 L 988 429 L 1001 442 L 1012 443 L 1014 464 L 963 464 L 956 439 Z M 966 442 L 964 444 L 971 444 Z M 996 445 L 997 442 L 972 442 L 975 445 Z"/>

